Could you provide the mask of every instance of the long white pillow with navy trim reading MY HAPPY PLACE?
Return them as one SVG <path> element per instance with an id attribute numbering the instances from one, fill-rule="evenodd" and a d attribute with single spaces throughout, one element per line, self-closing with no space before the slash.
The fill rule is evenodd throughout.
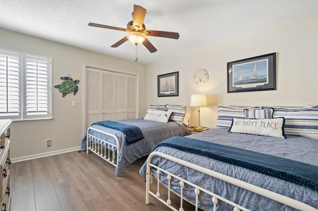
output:
<path id="1" fill-rule="evenodd" d="M 284 117 L 278 117 L 274 119 L 234 118 L 229 132 L 287 139 L 285 136 L 284 127 Z"/>

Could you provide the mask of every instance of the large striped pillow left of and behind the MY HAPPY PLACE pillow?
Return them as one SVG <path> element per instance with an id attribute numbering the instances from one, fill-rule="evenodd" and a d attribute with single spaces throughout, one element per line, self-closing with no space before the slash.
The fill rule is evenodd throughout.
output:
<path id="1" fill-rule="evenodd" d="M 218 107 L 218 119 L 216 128 L 230 128 L 233 118 L 245 119 L 244 109 L 257 109 L 258 106 L 252 106 L 248 108 L 237 108 L 225 105 L 219 105 Z"/>

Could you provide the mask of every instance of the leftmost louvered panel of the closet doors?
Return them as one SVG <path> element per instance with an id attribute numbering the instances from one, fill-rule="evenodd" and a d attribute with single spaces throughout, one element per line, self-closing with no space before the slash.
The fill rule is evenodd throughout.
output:
<path id="1" fill-rule="evenodd" d="M 101 121 L 101 70 L 86 68 L 86 127 L 98 121 Z"/>

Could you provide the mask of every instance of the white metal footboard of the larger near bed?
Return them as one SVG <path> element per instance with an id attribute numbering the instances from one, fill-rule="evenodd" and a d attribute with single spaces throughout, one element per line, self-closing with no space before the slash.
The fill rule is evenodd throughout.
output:
<path id="1" fill-rule="evenodd" d="M 154 196 L 155 198 L 157 198 L 160 202 L 162 202 L 163 204 L 165 204 L 167 207 L 169 207 L 171 210 L 173 211 L 183 211 L 183 187 L 184 187 L 184 184 L 188 184 L 190 186 L 192 186 L 194 188 L 194 192 L 195 192 L 195 195 L 196 195 L 196 200 L 195 202 L 190 202 L 191 204 L 195 205 L 195 210 L 197 211 L 198 210 L 198 197 L 199 197 L 199 194 L 200 192 L 205 192 L 207 194 L 209 194 L 211 196 L 211 200 L 212 200 L 212 203 L 213 203 L 213 210 L 214 211 L 217 211 L 216 209 L 216 205 L 218 203 L 219 200 L 233 206 L 233 211 L 249 211 L 247 208 L 244 208 L 234 202 L 231 202 L 217 194 L 214 194 L 202 187 L 199 186 L 199 184 L 193 184 L 183 178 L 180 178 L 164 169 L 161 169 L 159 168 L 158 166 L 154 165 L 151 163 L 151 159 L 153 156 L 160 156 L 160 157 L 163 157 L 165 159 L 168 159 L 168 160 L 171 160 L 173 162 L 176 162 L 176 163 L 179 163 L 181 165 L 184 165 L 186 167 L 189 167 L 189 168 L 192 168 L 196 171 L 200 171 L 204 174 L 207 174 L 207 175 L 210 175 L 212 177 L 215 177 L 217 179 L 220 179 L 220 180 L 223 180 L 225 182 L 228 182 L 228 183 L 231 183 L 233 185 L 236 185 L 240 188 L 243 188 L 243 189 L 246 189 L 248 191 L 251 191 L 253 193 L 256 193 L 256 194 L 259 194 L 261 196 L 264 196 L 264 197 L 267 197 L 269 199 L 272 199 L 274 201 L 277 201 L 277 202 L 280 202 L 282 204 L 285 204 L 285 205 L 288 205 L 292 208 L 295 208 L 295 209 L 298 209 L 298 210 L 301 210 L 301 211 L 318 211 L 317 209 L 305 204 L 305 203 L 302 203 L 302 202 L 299 202 L 297 200 L 294 200 L 294 199 L 291 199 L 291 198 L 288 198 L 286 196 L 283 196 L 283 195 L 280 195 L 280 194 L 277 194 L 275 192 L 272 192 L 272 191 L 269 191 L 269 190 L 266 190 L 266 189 L 263 189 L 263 188 L 260 188 L 258 186 L 255 186 L 255 185 L 252 185 L 252 184 L 249 184 L 249 183 L 246 183 L 246 182 L 243 182 L 241 180 L 238 180 L 238 179 L 235 179 L 233 177 L 229 177 L 227 175 L 224 175 L 224 174 L 221 174 L 221 173 L 218 173 L 216 171 L 212 171 L 210 169 L 207 169 L 207 168 L 204 168 L 202 166 L 198 166 L 196 164 L 193 164 L 193 163 L 190 163 L 190 162 L 187 162 L 187 161 L 184 161 L 184 160 L 181 160 L 179 158 L 176 158 L 176 157 L 173 157 L 173 156 L 170 156 L 170 155 L 167 155 L 167 154 L 164 154 L 162 152 L 158 152 L 158 151 L 155 151 L 155 152 L 152 152 L 148 159 L 147 159 L 147 177 L 146 177 L 146 204 L 149 204 L 150 202 L 150 195 Z M 150 185 L 152 183 L 152 177 L 155 176 L 151 173 L 150 171 L 150 167 L 153 167 L 155 169 L 157 169 L 157 175 L 158 177 L 157 178 L 157 193 L 154 193 L 150 190 Z M 168 185 L 166 186 L 167 187 L 167 200 L 164 201 L 163 199 L 160 198 L 160 195 L 161 193 L 159 192 L 159 182 L 160 182 L 160 172 L 163 172 L 165 174 L 167 174 L 167 179 L 168 179 Z M 171 206 L 171 199 L 170 199 L 170 192 L 172 190 L 170 190 L 170 181 L 171 181 L 171 178 L 176 178 L 177 180 L 180 181 L 180 193 L 178 194 L 180 196 L 180 208 L 176 209 L 174 208 L 173 206 Z"/>

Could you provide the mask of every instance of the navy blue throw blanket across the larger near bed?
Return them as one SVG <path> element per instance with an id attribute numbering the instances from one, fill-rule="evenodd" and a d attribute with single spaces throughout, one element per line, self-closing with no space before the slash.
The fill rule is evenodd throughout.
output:
<path id="1" fill-rule="evenodd" d="M 318 166 L 311 164 L 185 137 L 159 142 L 153 151 L 159 146 L 203 155 L 318 191 Z"/>

